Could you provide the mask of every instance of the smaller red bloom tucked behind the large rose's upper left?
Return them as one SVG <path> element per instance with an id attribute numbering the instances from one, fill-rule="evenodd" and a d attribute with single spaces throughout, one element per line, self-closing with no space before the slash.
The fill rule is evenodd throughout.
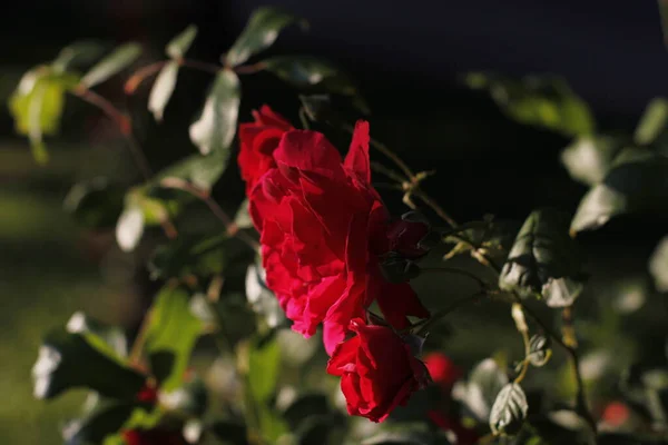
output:
<path id="1" fill-rule="evenodd" d="M 255 122 L 239 125 L 239 169 L 246 181 L 246 195 L 250 192 L 257 180 L 271 168 L 276 167 L 272 157 L 284 132 L 293 126 L 282 116 L 264 105 L 253 111 Z"/>

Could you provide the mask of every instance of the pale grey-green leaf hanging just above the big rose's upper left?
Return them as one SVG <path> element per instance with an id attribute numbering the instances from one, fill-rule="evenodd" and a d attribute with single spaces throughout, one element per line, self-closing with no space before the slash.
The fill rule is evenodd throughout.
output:
<path id="1" fill-rule="evenodd" d="M 236 131 L 239 112 L 239 79 L 232 70 L 223 70 L 204 103 L 196 122 L 190 126 L 190 140 L 203 155 L 223 151 L 228 154 Z"/>

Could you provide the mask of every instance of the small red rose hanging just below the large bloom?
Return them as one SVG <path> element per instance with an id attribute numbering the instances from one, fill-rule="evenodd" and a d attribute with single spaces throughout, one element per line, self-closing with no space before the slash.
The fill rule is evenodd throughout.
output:
<path id="1" fill-rule="evenodd" d="M 391 328 L 367 326 L 361 318 L 350 328 L 357 335 L 336 345 L 327 373 L 341 376 L 348 414 L 383 422 L 426 385 L 426 367 Z"/>

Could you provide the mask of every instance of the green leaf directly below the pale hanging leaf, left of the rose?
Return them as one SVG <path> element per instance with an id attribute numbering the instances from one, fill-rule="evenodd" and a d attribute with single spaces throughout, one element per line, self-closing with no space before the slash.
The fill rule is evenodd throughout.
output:
<path id="1" fill-rule="evenodd" d="M 179 178 L 191 182 L 200 190 L 209 191 L 225 172 L 229 151 L 219 150 L 210 155 L 190 155 L 156 175 L 154 182 L 165 178 Z"/>

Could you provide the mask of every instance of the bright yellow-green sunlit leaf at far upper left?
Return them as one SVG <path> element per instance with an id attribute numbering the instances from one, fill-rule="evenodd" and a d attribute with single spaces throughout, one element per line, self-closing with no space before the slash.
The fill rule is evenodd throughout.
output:
<path id="1" fill-rule="evenodd" d="M 75 75 L 56 73 L 49 67 L 38 67 L 23 75 L 9 99 L 16 131 L 28 136 L 39 164 L 48 161 L 43 136 L 58 132 L 65 92 L 77 82 Z"/>

